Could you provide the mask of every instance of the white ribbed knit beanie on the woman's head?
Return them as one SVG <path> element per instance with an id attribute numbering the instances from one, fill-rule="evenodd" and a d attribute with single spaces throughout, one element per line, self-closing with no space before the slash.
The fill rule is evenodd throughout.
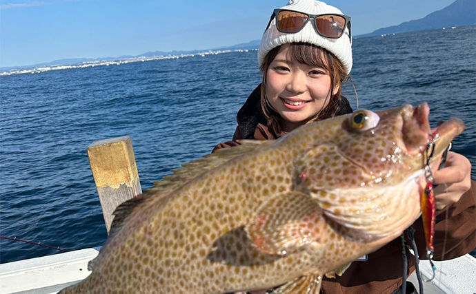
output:
<path id="1" fill-rule="evenodd" d="M 343 14 L 339 9 L 329 6 L 324 2 L 315 0 L 289 0 L 288 5 L 281 7 L 284 9 L 295 10 L 307 14 Z M 266 54 L 273 48 L 286 43 L 310 43 L 333 53 L 346 70 L 346 74 L 352 70 L 352 44 L 349 39 L 349 31 L 346 28 L 344 34 L 339 39 L 329 39 L 317 33 L 314 19 L 308 21 L 304 28 L 297 33 L 283 33 L 276 28 L 276 17 L 270 23 L 270 26 L 263 34 L 261 45 L 258 50 L 259 65 L 263 65 Z"/>

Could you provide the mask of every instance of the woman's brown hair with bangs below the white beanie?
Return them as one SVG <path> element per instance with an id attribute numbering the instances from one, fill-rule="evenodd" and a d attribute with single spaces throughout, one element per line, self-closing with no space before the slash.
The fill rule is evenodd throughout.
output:
<path id="1" fill-rule="evenodd" d="M 263 72 L 263 83 L 261 83 L 261 109 L 263 110 L 266 120 L 268 120 L 268 129 L 275 137 L 281 133 L 281 116 L 277 114 L 275 109 L 270 105 L 268 98 L 266 98 L 265 86 L 268 67 L 275 59 L 279 48 L 281 48 L 281 46 L 270 50 L 264 58 L 263 65 L 261 65 L 261 71 Z M 321 109 L 321 111 L 308 122 L 335 116 L 341 105 L 341 85 L 348 78 L 344 70 L 344 65 L 328 50 L 309 43 L 290 43 L 288 54 L 293 61 L 313 67 L 322 67 L 330 73 L 330 98 L 328 105 L 324 107 L 324 109 Z M 335 94 L 332 94 L 333 89 L 337 85 L 339 85 L 339 90 Z"/>

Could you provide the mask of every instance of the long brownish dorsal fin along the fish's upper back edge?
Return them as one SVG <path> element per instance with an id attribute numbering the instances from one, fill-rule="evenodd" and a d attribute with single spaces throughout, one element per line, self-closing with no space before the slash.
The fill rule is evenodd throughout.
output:
<path id="1" fill-rule="evenodd" d="M 114 213 L 112 213 L 114 215 L 114 219 L 112 220 L 109 230 L 108 240 L 103 244 L 101 252 L 106 249 L 112 240 L 114 240 L 115 236 L 128 222 L 128 219 L 137 213 L 139 207 L 148 205 L 148 203 L 152 200 L 154 201 L 154 204 L 156 204 L 157 201 L 170 196 L 172 191 L 175 191 L 177 188 L 186 185 L 186 183 L 197 178 L 198 176 L 201 176 L 202 174 L 205 174 L 211 169 L 219 167 L 220 165 L 223 165 L 224 163 L 229 162 L 230 160 L 233 160 L 239 156 L 256 151 L 261 147 L 272 145 L 276 143 L 276 140 L 240 140 L 239 143 L 241 145 L 237 147 L 218 149 L 214 153 L 204 156 L 204 158 L 200 158 L 182 165 L 181 169 L 176 169 L 173 171 L 174 174 L 165 176 L 163 177 L 163 180 L 155 182 L 154 187 L 148 189 L 143 194 L 119 204 Z M 96 262 L 97 259 L 92 260 L 88 264 L 88 269 L 94 269 Z"/>

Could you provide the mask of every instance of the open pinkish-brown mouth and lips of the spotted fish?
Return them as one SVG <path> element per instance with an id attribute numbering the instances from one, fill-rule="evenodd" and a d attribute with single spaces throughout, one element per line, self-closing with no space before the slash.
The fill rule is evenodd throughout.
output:
<path id="1" fill-rule="evenodd" d="M 407 108 L 408 107 L 408 108 Z M 406 105 L 404 107 L 404 144 L 409 154 L 426 151 L 433 143 L 433 162 L 448 148 L 450 142 L 464 131 L 465 125 L 459 118 L 450 118 L 446 122 L 431 129 L 429 123 L 430 107 L 422 102 L 417 107 Z M 411 116 L 410 119 L 408 119 Z"/>

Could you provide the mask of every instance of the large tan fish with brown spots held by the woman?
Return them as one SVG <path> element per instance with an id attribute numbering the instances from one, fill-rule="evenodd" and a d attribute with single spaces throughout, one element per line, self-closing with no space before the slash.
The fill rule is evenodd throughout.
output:
<path id="1" fill-rule="evenodd" d="M 118 207 L 92 273 L 61 293 L 319 293 L 420 216 L 424 168 L 464 130 L 428 114 L 359 110 L 191 162 Z"/>

